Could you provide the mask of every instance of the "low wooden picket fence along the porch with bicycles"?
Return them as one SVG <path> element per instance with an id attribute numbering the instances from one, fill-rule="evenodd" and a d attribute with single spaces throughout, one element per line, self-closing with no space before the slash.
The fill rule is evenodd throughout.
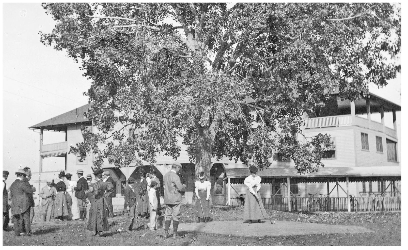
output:
<path id="1" fill-rule="evenodd" d="M 347 211 L 346 197 L 296 197 L 290 199 L 293 212 Z M 350 198 L 349 198 L 350 199 Z M 262 198 L 266 209 L 288 211 L 288 198 Z M 244 199 L 231 198 L 232 206 L 243 206 Z M 353 197 L 350 199 L 353 212 L 401 211 L 401 197 Z"/>

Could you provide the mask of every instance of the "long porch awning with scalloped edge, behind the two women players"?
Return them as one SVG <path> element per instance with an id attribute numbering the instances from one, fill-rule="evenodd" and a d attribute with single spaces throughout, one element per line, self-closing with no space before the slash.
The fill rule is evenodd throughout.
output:
<path id="1" fill-rule="evenodd" d="M 225 169 L 226 178 L 246 178 L 250 173 L 245 169 Z M 401 177 L 400 166 L 375 167 L 324 167 L 317 172 L 299 174 L 295 168 L 269 168 L 257 172 L 261 177 L 271 178 L 341 178 L 341 177 Z M 310 180 L 312 181 L 312 180 Z M 326 180 L 327 181 L 327 180 Z"/>

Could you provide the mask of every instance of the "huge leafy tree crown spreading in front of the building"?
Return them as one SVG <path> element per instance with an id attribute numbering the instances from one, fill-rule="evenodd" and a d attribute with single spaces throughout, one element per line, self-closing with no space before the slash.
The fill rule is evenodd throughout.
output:
<path id="1" fill-rule="evenodd" d="M 66 50 L 92 80 L 86 116 L 99 132 L 84 129 L 71 152 L 92 151 L 97 166 L 153 163 L 160 151 L 177 158 L 180 136 L 196 176 L 209 174 L 211 157 L 262 169 L 277 151 L 299 173 L 315 171 L 329 136 L 302 138 L 304 114 L 335 88 L 359 99 L 400 70 L 400 7 L 388 3 L 43 7 L 56 24 L 42 42 Z"/>

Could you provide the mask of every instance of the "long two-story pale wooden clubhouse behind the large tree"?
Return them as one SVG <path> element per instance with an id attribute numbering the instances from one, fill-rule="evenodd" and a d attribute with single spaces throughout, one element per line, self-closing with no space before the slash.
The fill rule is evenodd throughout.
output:
<path id="1" fill-rule="evenodd" d="M 78 107 L 30 127 L 30 129 L 38 129 L 41 132 L 41 158 L 53 156 L 65 158 L 64 166 L 55 166 L 55 171 L 44 172 L 40 170 L 40 178 L 34 182 L 39 181 L 45 184 L 47 178 L 56 179 L 60 169 L 65 169 L 67 173 L 72 174 L 76 173 L 77 169 L 83 169 L 85 174 L 92 172 L 92 155 L 80 162 L 79 157 L 68 154 L 70 145 L 75 145 L 83 140 L 80 131 L 81 126 L 89 127 L 95 132 L 92 122 L 83 115 L 89 105 L 91 104 Z M 325 167 L 315 173 L 299 175 L 296 173 L 293 161 L 283 159 L 279 153 L 275 154 L 270 159 L 271 167 L 259 171 L 259 175 L 262 177 L 261 192 L 266 206 L 283 210 L 310 210 L 312 205 L 315 209 L 317 203 L 330 203 L 326 206 L 326 210 L 344 210 L 350 206 L 351 210 L 353 208 L 354 210 L 363 210 L 353 207 L 356 202 L 351 201 L 350 204 L 350 199 L 346 197 L 349 195 L 357 198 L 398 196 L 401 185 L 401 167 L 399 166 L 397 150 L 396 112 L 400 110 L 400 105 L 374 94 L 370 94 L 367 99 L 354 102 L 342 100 L 337 94 L 333 94 L 332 98 L 326 102 L 326 106 L 316 111 L 315 117 L 305 118 L 305 127 L 303 128 L 306 137 L 318 133 L 331 135 L 335 148 L 326 151 L 322 160 Z M 393 127 L 386 126 L 384 116 L 386 112 L 392 112 Z M 381 122 L 371 119 L 372 114 L 375 113 L 380 114 Z M 119 127 L 122 125 L 118 124 Z M 44 130 L 64 132 L 66 139 L 61 143 L 43 145 Z M 177 160 L 183 165 L 183 178 L 187 185 L 184 202 L 191 203 L 195 181 L 195 164 L 188 160 L 185 151 L 186 145 L 181 143 L 182 138 L 179 138 L 179 141 L 182 150 Z M 170 170 L 172 162 L 173 159 L 170 156 L 160 154 L 157 157 L 155 169 L 159 173 L 158 177 L 161 181 L 163 175 Z M 103 168 L 110 170 L 116 182 L 117 197 L 113 199 L 113 202 L 115 209 L 121 210 L 124 204 L 123 195 L 126 180 L 130 176 L 137 178 L 139 169 L 134 165 L 118 169 L 107 163 L 104 164 Z M 148 171 L 150 166 L 144 162 L 143 168 Z M 211 167 L 213 203 L 237 204 L 239 197 L 246 193 L 243 180 L 248 175 L 248 167 L 242 162 L 230 161 L 226 158 L 220 161 L 213 159 Z M 76 175 L 74 174 L 73 180 L 75 178 Z M 308 195 L 309 193 L 313 194 L 313 198 Z M 322 200 L 321 197 L 325 196 L 329 196 L 330 199 Z M 361 207 L 366 206 L 363 203 L 366 201 L 360 199 Z M 371 205 L 367 206 L 371 207 Z"/>

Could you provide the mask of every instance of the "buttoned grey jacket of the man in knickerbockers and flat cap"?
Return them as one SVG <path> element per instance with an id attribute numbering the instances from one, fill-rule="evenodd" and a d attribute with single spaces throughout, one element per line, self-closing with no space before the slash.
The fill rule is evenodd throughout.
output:
<path id="1" fill-rule="evenodd" d="M 173 171 L 166 173 L 163 178 L 164 189 L 164 204 L 180 204 L 182 192 L 186 191 L 182 186 L 180 176 Z"/>

